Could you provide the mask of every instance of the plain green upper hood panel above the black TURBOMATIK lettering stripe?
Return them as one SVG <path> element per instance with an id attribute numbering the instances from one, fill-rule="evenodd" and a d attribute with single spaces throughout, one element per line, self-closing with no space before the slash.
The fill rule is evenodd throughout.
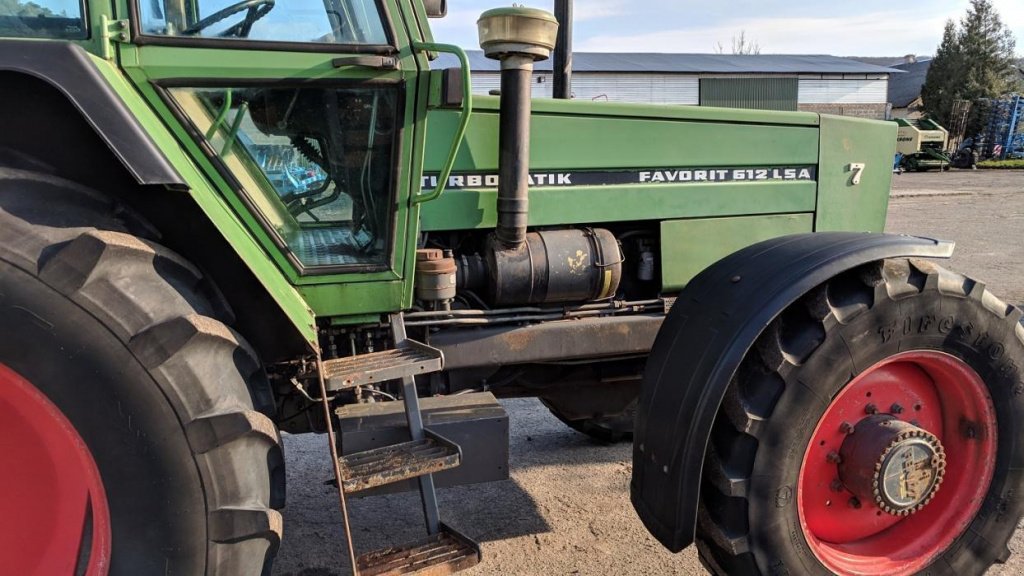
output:
<path id="1" fill-rule="evenodd" d="M 479 99 L 484 101 L 474 107 L 457 172 L 498 169 L 498 111 L 494 98 Z M 696 109 L 682 115 L 687 107 L 535 105 L 532 170 L 783 166 L 814 164 L 818 157 L 815 124 L 782 122 L 808 121 L 807 116 L 816 120 L 815 115 L 780 113 L 779 123 L 772 123 L 773 115 L 749 110 Z M 755 119 L 763 123 L 752 123 Z M 428 114 L 427 172 L 440 170 L 447 151 L 443 145 L 451 141 L 457 121 L 454 111 Z"/>

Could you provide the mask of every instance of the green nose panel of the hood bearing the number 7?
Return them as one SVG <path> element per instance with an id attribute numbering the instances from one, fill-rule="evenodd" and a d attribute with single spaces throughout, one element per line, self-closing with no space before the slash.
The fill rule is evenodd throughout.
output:
<path id="1" fill-rule="evenodd" d="M 814 230 L 882 232 L 895 154 L 896 123 L 822 115 Z M 853 163 L 864 165 L 858 184 Z"/>

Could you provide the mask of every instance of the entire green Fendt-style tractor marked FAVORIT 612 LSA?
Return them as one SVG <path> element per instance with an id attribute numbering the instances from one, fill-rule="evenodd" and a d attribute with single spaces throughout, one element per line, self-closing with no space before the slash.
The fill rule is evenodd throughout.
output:
<path id="1" fill-rule="evenodd" d="M 281 433 L 329 436 L 339 537 L 422 496 L 339 566 L 473 566 L 435 487 L 507 478 L 515 396 L 632 438 L 640 519 L 716 574 L 1008 558 L 1021 312 L 882 234 L 894 124 L 531 102 L 558 23 L 518 7 L 473 96 L 444 12 L 0 1 L 0 572 L 268 574 Z"/>

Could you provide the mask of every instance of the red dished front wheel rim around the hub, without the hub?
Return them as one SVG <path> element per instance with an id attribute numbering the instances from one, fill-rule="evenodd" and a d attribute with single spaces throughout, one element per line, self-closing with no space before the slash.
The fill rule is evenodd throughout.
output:
<path id="1" fill-rule="evenodd" d="M 930 433 L 945 451 L 945 476 L 934 498 L 909 516 L 851 501 L 854 494 L 836 484 L 835 454 L 848 424 L 856 430 L 871 410 L 868 405 Z M 797 501 L 808 544 L 839 574 L 918 572 L 946 550 L 978 512 L 992 481 L 996 441 L 991 397 L 964 361 L 914 351 L 871 366 L 833 400 L 804 453 Z"/>

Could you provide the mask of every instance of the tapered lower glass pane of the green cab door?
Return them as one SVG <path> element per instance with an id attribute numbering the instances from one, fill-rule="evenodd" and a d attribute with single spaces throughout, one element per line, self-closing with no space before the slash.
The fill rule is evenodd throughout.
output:
<path id="1" fill-rule="evenodd" d="M 387 268 L 398 85 L 169 93 L 303 271 Z"/>

